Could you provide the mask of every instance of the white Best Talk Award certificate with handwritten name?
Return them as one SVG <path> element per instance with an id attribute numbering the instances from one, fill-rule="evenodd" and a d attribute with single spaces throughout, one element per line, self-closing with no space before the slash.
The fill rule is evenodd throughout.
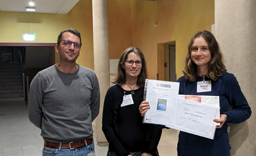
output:
<path id="1" fill-rule="evenodd" d="M 218 117 L 219 111 L 218 106 L 178 98 L 176 124 L 167 127 L 213 139 L 216 129 L 213 119 Z"/>

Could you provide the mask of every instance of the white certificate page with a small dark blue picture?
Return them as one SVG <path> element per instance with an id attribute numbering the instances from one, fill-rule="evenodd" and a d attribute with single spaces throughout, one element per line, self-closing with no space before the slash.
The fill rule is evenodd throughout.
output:
<path id="1" fill-rule="evenodd" d="M 179 82 L 146 80 L 145 100 L 150 109 L 144 114 L 143 123 L 174 125 Z"/>

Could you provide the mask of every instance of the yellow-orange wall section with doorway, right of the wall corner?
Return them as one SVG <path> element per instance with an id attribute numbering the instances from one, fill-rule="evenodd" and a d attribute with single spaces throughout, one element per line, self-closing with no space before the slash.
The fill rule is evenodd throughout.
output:
<path id="1" fill-rule="evenodd" d="M 197 31 L 211 31 L 214 0 L 133 0 L 133 23 L 134 46 L 145 54 L 149 79 L 159 73 L 159 80 L 164 80 L 164 51 L 158 44 L 171 41 L 176 41 L 178 79 L 189 40 Z"/>

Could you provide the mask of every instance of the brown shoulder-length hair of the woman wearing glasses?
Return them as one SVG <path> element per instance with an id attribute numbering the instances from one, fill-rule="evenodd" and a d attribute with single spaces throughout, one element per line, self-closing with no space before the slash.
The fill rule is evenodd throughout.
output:
<path id="1" fill-rule="evenodd" d="M 141 58 L 142 61 L 142 67 L 141 67 L 141 72 L 138 76 L 138 80 L 137 80 L 137 85 L 139 87 L 144 87 L 145 85 L 145 79 L 147 79 L 148 77 L 148 71 L 147 71 L 147 64 L 144 58 L 144 55 L 142 53 L 142 51 L 139 48 L 136 47 L 130 47 L 127 48 L 121 55 L 118 65 L 117 65 L 117 73 L 115 74 L 115 76 L 113 77 L 113 82 L 114 84 L 117 84 L 118 86 L 122 86 L 126 83 L 126 79 L 125 79 L 125 69 L 123 69 L 124 63 L 125 61 L 127 61 L 127 56 L 129 53 L 135 53 L 138 54 Z"/>

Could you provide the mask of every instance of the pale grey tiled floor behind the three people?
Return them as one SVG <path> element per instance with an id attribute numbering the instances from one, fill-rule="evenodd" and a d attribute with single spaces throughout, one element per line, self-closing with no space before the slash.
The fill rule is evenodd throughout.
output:
<path id="1" fill-rule="evenodd" d="M 30 123 L 27 103 L 1 102 L 0 104 L 0 156 L 42 156 L 41 130 Z M 95 134 L 94 134 L 95 135 Z M 163 129 L 158 144 L 160 156 L 176 156 L 178 133 L 175 129 Z M 106 156 L 108 146 L 98 146 L 96 156 Z"/>

